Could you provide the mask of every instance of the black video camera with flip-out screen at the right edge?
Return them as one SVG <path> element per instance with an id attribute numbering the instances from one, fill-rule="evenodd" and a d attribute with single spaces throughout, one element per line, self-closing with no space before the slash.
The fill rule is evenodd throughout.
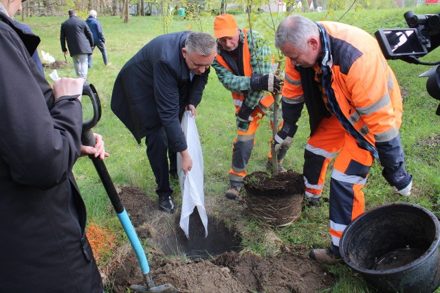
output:
<path id="1" fill-rule="evenodd" d="M 404 18 L 409 28 L 377 30 L 377 42 L 388 60 L 399 59 L 417 65 L 436 65 L 419 77 L 428 78 L 426 90 L 431 97 L 440 100 L 440 62 L 419 60 L 440 45 L 440 12 L 415 14 L 410 10 L 404 14 Z M 436 114 L 440 116 L 440 104 Z"/>

